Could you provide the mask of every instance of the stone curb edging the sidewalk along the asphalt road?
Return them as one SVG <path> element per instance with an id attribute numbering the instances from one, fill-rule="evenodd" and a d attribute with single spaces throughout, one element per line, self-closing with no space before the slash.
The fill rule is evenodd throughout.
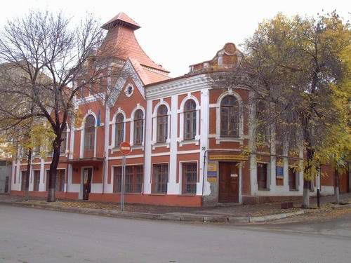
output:
<path id="1" fill-rule="evenodd" d="M 172 214 L 121 212 L 118 210 L 105 210 L 105 209 L 98 209 L 98 208 L 72 208 L 72 207 L 62 208 L 55 205 L 11 202 L 11 201 L 0 201 L 0 204 L 26 207 L 26 208 L 39 208 L 44 210 L 53 210 L 53 211 L 67 212 L 67 213 L 100 215 L 105 217 L 164 220 L 164 221 L 178 221 L 178 222 L 226 223 L 226 224 L 250 224 L 250 223 L 269 222 L 272 220 L 291 217 L 293 215 L 302 215 L 305 213 L 305 210 L 300 210 L 300 211 L 291 212 L 291 213 L 265 215 L 260 217 L 227 217 L 227 216 L 219 216 L 219 215 L 204 216 L 204 215 L 172 215 Z M 345 205 L 343 205 L 343 207 L 345 207 Z"/>

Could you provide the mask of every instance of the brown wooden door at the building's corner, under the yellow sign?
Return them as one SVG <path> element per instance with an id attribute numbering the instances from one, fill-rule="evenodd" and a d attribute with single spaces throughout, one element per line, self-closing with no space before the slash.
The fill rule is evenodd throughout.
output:
<path id="1" fill-rule="evenodd" d="M 219 163 L 219 193 L 220 203 L 239 202 L 239 163 Z"/>

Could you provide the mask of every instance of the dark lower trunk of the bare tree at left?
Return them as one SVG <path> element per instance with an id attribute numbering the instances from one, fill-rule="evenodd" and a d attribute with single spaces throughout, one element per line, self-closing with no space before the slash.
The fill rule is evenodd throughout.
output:
<path id="1" fill-rule="evenodd" d="M 48 173 L 48 202 L 55 202 L 55 188 L 56 188 L 56 174 L 58 169 L 58 162 L 60 161 L 60 146 L 61 138 L 56 136 L 53 141 L 53 159 L 50 164 Z"/>

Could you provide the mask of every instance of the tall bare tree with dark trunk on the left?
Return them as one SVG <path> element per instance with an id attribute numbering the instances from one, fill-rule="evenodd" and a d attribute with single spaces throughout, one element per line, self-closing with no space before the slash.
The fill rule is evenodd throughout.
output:
<path id="1" fill-rule="evenodd" d="M 13 119 L 35 116 L 48 121 L 55 134 L 48 179 L 48 201 L 55 201 L 55 177 L 62 132 L 76 113 L 75 97 L 84 89 L 121 71 L 119 50 L 102 45 L 100 22 L 87 15 L 79 25 L 62 13 L 31 12 L 8 21 L 0 33 L 0 62 L 10 63 L 22 78 L 3 74 L 0 93 L 17 95 L 32 104 L 32 111 Z M 104 95 L 105 90 L 99 91 Z M 1 107 L 1 106 L 0 106 Z M 11 116 L 12 109 L 1 108 Z"/>

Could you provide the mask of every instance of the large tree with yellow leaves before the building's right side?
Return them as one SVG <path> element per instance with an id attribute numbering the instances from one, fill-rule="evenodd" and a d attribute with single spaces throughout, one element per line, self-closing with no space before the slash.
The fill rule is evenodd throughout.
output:
<path id="1" fill-rule="evenodd" d="M 350 83 L 341 59 L 347 50 L 350 54 L 350 39 L 350 25 L 336 12 L 317 18 L 278 14 L 261 22 L 246 40 L 244 58 L 230 74 L 211 76 L 213 88 L 247 88 L 252 94 L 249 107 L 265 102 L 260 122 L 274 127 L 277 140 L 289 148 L 304 149 L 303 208 L 310 205 L 310 182 L 322 156 L 336 154 L 331 142 L 343 137 L 338 130 L 344 126 L 345 108 L 336 107 L 342 102 L 335 87 Z"/>

